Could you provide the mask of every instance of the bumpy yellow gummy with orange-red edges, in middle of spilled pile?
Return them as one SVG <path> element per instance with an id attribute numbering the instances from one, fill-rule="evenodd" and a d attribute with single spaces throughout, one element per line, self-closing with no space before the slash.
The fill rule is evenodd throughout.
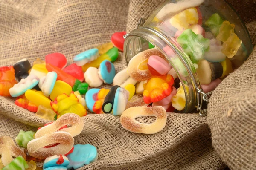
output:
<path id="1" fill-rule="evenodd" d="M 51 106 L 58 116 L 66 113 L 75 113 L 80 117 L 87 115 L 86 109 L 79 103 L 79 99 L 74 92 L 71 92 L 70 96 L 66 94 L 58 95 L 55 101 L 51 102 Z"/>

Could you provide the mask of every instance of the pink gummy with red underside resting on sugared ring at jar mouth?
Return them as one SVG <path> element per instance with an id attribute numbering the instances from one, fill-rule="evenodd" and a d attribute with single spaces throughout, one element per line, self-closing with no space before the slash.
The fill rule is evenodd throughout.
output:
<path id="1" fill-rule="evenodd" d="M 151 55 L 148 58 L 148 69 L 152 75 L 166 75 L 171 67 L 163 58 L 157 55 Z"/>

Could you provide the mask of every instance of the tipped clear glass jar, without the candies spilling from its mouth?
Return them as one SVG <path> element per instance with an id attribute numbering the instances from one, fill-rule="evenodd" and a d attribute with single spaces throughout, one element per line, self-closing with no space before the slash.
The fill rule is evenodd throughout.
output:
<path id="1" fill-rule="evenodd" d="M 241 66 L 253 49 L 246 26 L 224 0 L 166 0 L 125 37 L 126 61 L 152 45 L 166 57 L 186 89 L 186 104 L 180 112 L 197 108 L 201 115 L 205 115 L 202 101 L 208 101 L 210 94 L 201 89 L 201 84 L 209 84 L 209 78 L 205 79 L 209 75 L 201 67 L 221 64 L 222 74 L 216 66 L 210 81 L 212 77 L 222 80 Z M 230 61 L 232 69 L 228 70 Z"/>

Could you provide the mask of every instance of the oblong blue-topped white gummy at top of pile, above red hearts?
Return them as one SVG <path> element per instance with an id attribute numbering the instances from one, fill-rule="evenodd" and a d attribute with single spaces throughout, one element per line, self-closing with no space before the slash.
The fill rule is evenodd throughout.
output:
<path id="1" fill-rule="evenodd" d="M 74 63 L 76 63 L 77 66 L 83 66 L 84 64 L 96 60 L 99 57 L 99 50 L 98 49 L 89 49 L 85 52 L 82 52 L 78 55 L 76 55 L 73 58 Z"/>

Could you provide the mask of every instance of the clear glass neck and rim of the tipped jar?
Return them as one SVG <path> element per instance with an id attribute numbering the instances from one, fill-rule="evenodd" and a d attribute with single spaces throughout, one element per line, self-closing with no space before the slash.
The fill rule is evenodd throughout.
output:
<path id="1" fill-rule="evenodd" d="M 127 63 L 132 57 L 148 49 L 148 42 L 159 49 L 175 69 L 183 89 L 188 86 L 188 92 L 184 90 L 186 105 L 182 112 L 192 111 L 197 104 L 197 92 L 201 89 L 200 83 L 194 65 L 173 37 L 166 36 L 157 28 L 134 29 L 125 39 L 124 52 Z"/>

